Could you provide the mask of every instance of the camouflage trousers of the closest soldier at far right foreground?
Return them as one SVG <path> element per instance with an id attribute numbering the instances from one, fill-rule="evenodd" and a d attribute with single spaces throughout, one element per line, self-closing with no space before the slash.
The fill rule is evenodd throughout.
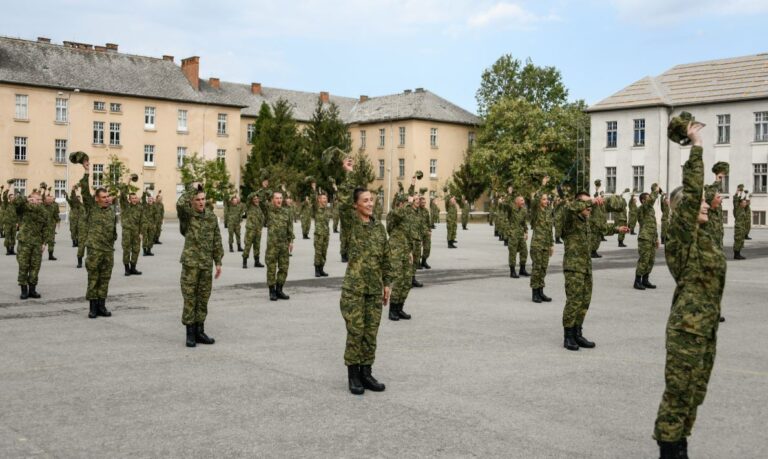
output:
<path id="1" fill-rule="evenodd" d="M 653 438 L 678 441 L 691 435 L 715 363 L 717 338 L 667 328 L 665 388 Z"/>

